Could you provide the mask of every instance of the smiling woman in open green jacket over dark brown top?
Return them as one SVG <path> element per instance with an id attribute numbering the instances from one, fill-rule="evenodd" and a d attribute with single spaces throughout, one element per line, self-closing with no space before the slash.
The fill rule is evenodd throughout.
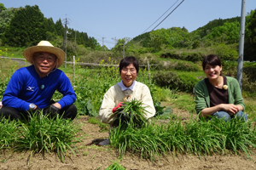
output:
<path id="1" fill-rule="evenodd" d="M 217 55 L 207 55 L 202 61 L 207 78 L 195 85 L 195 110 L 202 117 L 216 116 L 224 121 L 235 116 L 247 121 L 245 105 L 237 80 L 221 76 L 222 65 Z"/>

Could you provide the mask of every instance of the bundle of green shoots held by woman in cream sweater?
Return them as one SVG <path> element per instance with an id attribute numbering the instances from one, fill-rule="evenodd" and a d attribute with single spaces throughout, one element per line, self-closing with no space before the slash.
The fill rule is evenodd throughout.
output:
<path id="1" fill-rule="evenodd" d="M 123 105 L 117 109 L 113 114 L 116 116 L 117 126 L 127 127 L 142 127 L 145 122 L 146 108 L 142 106 L 142 101 L 132 99 L 131 101 L 123 102 Z"/>

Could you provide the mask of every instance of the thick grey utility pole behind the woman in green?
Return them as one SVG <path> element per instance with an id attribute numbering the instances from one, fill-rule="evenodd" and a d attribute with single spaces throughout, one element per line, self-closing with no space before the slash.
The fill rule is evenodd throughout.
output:
<path id="1" fill-rule="evenodd" d="M 246 13 L 246 0 L 241 0 L 241 22 L 240 22 L 240 37 L 239 37 L 239 49 L 238 49 L 238 65 L 236 79 L 241 89 L 242 80 L 242 65 L 243 65 L 243 48 L 244 48 L 244 30 L 245 30 L 245 13 Z"/>

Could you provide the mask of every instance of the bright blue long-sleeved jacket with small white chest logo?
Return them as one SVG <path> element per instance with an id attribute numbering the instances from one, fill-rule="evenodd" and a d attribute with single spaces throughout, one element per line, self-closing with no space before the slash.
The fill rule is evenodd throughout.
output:
<path id="1" fill-rule="evenodd" d="M 44 85 L 44 88 L 40 87 Z M 3 94 L 3 105 L 14 107 L 19 111 L 27 111 L 31 103 L 43 109 L 49 105 L 55 90 L 63 94 L 58 101 L 61 108 L 72 105 L 76 94 L 68 77 L 63 71 L 56 69 L 47 77 L 40 78 L 34 65 L 20 68 L 11 77 Z"/>

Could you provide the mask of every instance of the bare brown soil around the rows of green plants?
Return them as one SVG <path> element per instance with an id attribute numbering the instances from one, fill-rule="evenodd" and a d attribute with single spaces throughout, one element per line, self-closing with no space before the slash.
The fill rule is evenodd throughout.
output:
<path id="1" fill-rule="evenodd" d="M 178 111 L 172 109 L 174 114 L 183 117 L 183 121 L 189 120 L 189 113 L 186 111 Z M 98 146 L 96 144 L 85 145 L 93 139 L 107 139 L 108 132 L 100 133 L 100 127 L 88 122 L 87 116 L 79 116 L 75 119 L 76 123 L 81 123 L 81 131 L 86 134 L 82 143 L 77 146 L 79 150 L 76 156 L 70 154 L 66 156 L 66 162 L 60 161 L 55 154 L 46 153 L 30 156 L 27 152 L 13 152 L 5 150 L 0 153 L 0 170 L 2 169 L 49 169 L 49 170 L 71 170 L 71 169 L 99 169 L 103 170 L 119 160 L 116 149 L 107 146 Z M 164 123 L 164 122 L 163 122 Z M 256 160 L 256 156 L 251 156 Z M 194 156 L 194 155 L 178 155 L 175 158 L 172 156 L 169 159 L 161 158 L 158 161 L 151 162 L 141 159 L 138 156 L 127 153 L 121 161 L 123 167 L 129 170 L 140 169 L 255 169 L 255 161 L 247 159 L 245 154 L 236 156 L 234 154 L 213 155 L 213 156 Z"/>

